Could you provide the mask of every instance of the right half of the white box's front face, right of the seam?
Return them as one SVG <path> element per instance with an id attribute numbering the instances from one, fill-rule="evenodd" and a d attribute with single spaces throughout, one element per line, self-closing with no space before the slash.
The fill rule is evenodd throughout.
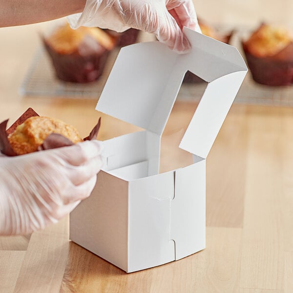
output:
<path id="1" fill-rule="evenodd" d="M 206 160 L 175 171 L 170 237 L 176 260 L 206 247 Z"/>

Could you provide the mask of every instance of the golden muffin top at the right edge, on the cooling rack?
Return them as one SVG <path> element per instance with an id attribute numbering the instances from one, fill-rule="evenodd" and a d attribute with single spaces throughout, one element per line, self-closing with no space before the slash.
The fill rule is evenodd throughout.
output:
<path id="1" fill-rule="evenodd" d="M 251 55 L 270 57 L 276 55 L 291 42 L 292 37 L 285 28 L 262 24 L 244 44 Z"/>

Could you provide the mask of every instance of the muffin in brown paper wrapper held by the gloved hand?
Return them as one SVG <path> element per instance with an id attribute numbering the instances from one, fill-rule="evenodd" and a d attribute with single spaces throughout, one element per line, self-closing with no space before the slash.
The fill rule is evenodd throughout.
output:
<path id="1" fill-rule="evenodd" d="M 97 139 L 101 118 L 90 134 L 82 139 L 75 127 L 61 120 L 41 117 L 28 108 L 6 130 L 8 120 L 0 123 L 0 152 L 6 156 L 23 155 L 45 149 L 72 146 L 76 143 Z"/>

